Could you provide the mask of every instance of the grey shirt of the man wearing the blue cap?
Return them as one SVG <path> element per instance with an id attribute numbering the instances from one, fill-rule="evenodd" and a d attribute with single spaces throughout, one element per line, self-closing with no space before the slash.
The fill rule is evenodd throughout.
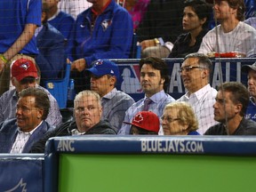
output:
<path id="1" fill-rule="evenodd" d="M 108 122 L 119 131 L 124 121 L 125 111 L 132 106 L 135 101 L 125 92 L 117 91 L 114 88 L 111 92 L 101 98 L 103 114 L 101 119 L 108 119 Z"/>

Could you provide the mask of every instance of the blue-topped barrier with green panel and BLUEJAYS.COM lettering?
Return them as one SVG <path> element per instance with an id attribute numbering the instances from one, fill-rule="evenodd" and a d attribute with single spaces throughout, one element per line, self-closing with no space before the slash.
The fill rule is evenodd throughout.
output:
<path id="1" fill-rule="evenodd" d="M 59 137 L 44 162 L 44 192 L 256 188 L 255 137 Z"/>

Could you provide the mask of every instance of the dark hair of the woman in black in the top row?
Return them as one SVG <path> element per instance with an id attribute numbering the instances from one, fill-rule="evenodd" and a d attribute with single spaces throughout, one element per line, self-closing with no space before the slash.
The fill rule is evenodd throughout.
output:
<path id="1" fill-rule="evenodd" d="M 184 2 L 184 8 L 187 6 L 192 7 L 193 11 L 196 12 L 196 15 L 200 20 L 206 18 L 203 28 L 208 28 L 209 20 L 211 19 L 212 15 L 212 6 L 202 0 L 187 0 Z"/>

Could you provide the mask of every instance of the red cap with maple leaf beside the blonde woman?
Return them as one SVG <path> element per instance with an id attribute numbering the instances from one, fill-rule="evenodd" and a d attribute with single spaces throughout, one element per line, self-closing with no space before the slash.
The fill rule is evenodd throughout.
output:
<path id="1" fill-rule="evenodd" d="M 159 132 L 160 127 L 159 118 L 152 111 L 140 111 L 133 117 L 132 123 L 124 122 L 124 124 L 132 124 L 151 132 Z"/>

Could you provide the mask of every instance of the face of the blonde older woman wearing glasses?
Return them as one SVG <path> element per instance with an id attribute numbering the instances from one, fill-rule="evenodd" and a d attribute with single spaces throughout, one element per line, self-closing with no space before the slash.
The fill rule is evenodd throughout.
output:
<path id="1" fill-rule="evenodd" d="M 180 116 L 178 113 L 178 108 L 168 108 L 164 110 L 164 114 L 161 117 L 164 135 L 188 134 L 188 124 L 182 124 L 180 122 Z"/>

